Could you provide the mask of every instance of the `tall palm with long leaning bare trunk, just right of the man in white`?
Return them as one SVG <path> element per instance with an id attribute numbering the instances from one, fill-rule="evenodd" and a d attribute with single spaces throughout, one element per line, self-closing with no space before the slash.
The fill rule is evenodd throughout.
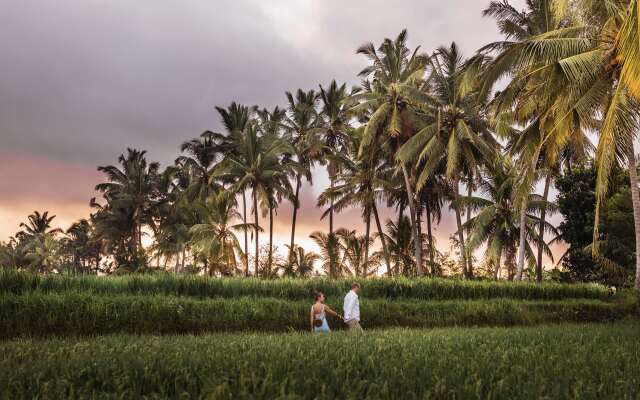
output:
<path id="1" fill-rule="evenodd" d="M 377 50 L 373 43 L 367 43 L 357 51 L 371 61 L 371 65 L 359 74 L 363 78 L 371 77 L 371 81 L 364 82 L 364 92 L 356 96 L 360 104 L 354 108 L 359 115 L 370 113 L 360 147 L 361 155 L 372 144 L 388 143 L 391 151 L 395 152 L 415 134 L 415 114 L 419 105 L 428 100 L 419 90 L 428 57 L 418 53 L 419 48 L 411 52 L 406 43 L 407 31 L 403 30 L 395 40 L 385 39 Z M 399 164 L 407 191 L 416 265 L 418 274 L 422 275 L 422 244 L 412 173 L 406 161 L 400 160 Z"/>

